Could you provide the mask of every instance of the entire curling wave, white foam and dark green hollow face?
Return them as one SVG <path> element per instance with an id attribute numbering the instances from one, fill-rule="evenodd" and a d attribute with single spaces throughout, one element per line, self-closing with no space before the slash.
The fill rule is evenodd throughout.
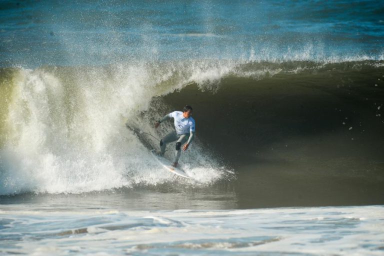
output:
<path id="1" fill-rule="evenodd" d="M 249 179 L 265 161 L 283 162 L 274 168 L 280 171 L 294 163 L 303 175 L 379 182 L 383 64 L 195 60 L 2 69 L 0 192 L 171 181 L 124 123 L 161 137 L 171 122 L 155 130 L 154 120 L 185 103 L 194 107 L 197 139 L 181 161 L 200 185 L 233 179 L 228 167 Z"/>

